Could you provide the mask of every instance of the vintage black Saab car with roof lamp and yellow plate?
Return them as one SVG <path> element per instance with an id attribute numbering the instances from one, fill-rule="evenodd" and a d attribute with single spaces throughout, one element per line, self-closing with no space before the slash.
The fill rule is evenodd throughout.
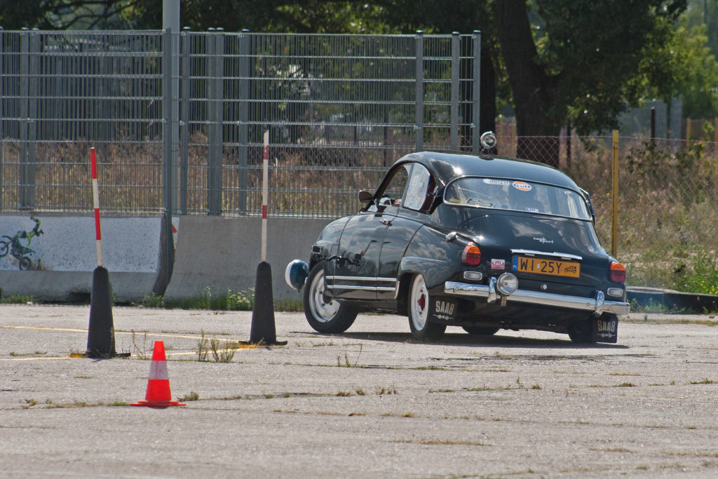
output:
<path id="1" fill-rule="evenodd" d="M 482 136 L 488 147 L 492 135 Z M 358 312 L 378 311 L 408 316 L 419 340 L 459 326 L 616 342 L 617 315 L 629 312 L 625 268 L 600 245 L 587 192 L 559 170 L 416 152 L 359 200 L 357 214 L 324 228 L 308 264 L 287 266 L 314 330 L 344 332 Z"/>

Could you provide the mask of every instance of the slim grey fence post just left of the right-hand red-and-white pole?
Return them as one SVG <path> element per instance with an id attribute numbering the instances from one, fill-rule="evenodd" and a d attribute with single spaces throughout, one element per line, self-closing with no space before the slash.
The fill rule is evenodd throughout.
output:
<path id="1" fill-rule="evenodd" d="M 249 152 L 249 52 L 251 36 L 242 30 L 239 37 L 239 185 L 238 210 L 247 210 L 247 156 Z"/>

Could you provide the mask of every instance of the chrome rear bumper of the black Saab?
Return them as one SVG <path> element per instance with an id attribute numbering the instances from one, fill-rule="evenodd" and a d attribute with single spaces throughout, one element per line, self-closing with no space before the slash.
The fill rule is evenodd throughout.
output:
<path id="1" fill-rule="evenodd" d="M 628 315 L 630 312 L 630 305 L 627 302 L 606 301 L 602 291 L 597 292 L 594 298 L 529 291 L 528 289 L 517 289 L 513 294 L 502 296 L 496 289 L 495 278 L 490 279 L 488 286 L 447 281 L 444 283 L 444 292 L 455 296 L 485 298 L 488 303 L 500 300 L 501 304 L 523 302 L 541 306 L 566 307 L 572 310 L 590 311 L 597 317 L 604 312 L 614 315 Z"/>

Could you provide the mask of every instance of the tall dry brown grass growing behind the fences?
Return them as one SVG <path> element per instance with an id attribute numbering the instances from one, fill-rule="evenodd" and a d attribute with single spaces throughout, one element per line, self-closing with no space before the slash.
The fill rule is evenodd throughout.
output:
<path id="1" fill-rule="evenodd" d="M 516 137 L 501 138 L 500 152 L 516 154 Z M 441 139 L 434 139 L 437 144 Z M 208 139 L 195 131 L 187 147 L 187 205 L 183 213 L 206 214 Z M 98 155 L 100 203 L 116 213 L 162 211 L 162 144 L 118 134 L 111 143 L 38 143 L 36 210 L 92 210 L 89 149 Z M 21 144 L 4 141 L 2 208 L 19 204 Z M 376 187 L 386 167 L 410 148 L 379 145 L 281 145 L 270 149 L 271 215 L 332 218 L 355 212 L 356 192 Z M 597 233 L 611 250 L 612 150 L 605 137 L 573 138 L 559 146 L 559 164 L 592 195 Z M 249 147 L 246 164 L 238 147 L 223 147 L 220 204 L 224 215 L 261 211 L 261 147 Z M 177 179 L 184 172 L 177 167 Z M 704 141 L 620 139 L 617 258 L 628 284 L 718 294 L 718 144 Z M 182 197 L 178 187 L 178 202 Z M 243 203 L 243 199 L 245 203 Z M 243 205 L 243 210 L 239 210 Z M 701 284 L 701 279 L 705 282 Z"/>

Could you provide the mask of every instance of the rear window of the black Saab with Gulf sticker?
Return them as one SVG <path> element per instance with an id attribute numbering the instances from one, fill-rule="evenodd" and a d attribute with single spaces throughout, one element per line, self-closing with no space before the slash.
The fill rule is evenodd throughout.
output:
<path id="1" fill-rule="evenodd" d="M 578 192 L 518 180 L 464 177 L 449 183 L 444 201 L 473 208 L 516 210 L 590 220 L 591 213 Z"/>

